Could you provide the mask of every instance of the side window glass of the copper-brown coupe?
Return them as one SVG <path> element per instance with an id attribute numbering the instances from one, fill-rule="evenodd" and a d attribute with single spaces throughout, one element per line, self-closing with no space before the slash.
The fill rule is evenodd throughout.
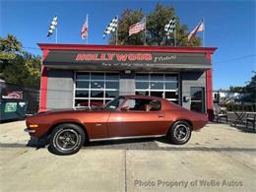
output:
<path id="1" fill-rule="evenodd" d="M 127 110 L 158 111 L 160 110 L 160 101 L 153 99 L 131 98 L 126 100 L 123 107 L 127 108 Z"/>

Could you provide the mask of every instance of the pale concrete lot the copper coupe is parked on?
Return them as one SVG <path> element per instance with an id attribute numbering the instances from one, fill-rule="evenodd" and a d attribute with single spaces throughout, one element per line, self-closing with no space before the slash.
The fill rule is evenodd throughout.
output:
<path id="1" fill-rule="evenodd" d="M 28 147 L 25 121 L 0 124 L 1 191 L 256 191 L 256 133 L 224 124 L 184 146 L 96 142 L 68 157 Z"/>

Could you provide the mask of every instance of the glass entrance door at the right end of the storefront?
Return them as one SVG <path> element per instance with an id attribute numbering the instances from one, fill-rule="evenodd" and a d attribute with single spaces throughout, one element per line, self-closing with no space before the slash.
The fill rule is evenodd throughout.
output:
<path id="1" fill-rule="evenodd" d="M 191 87 L 190 96 L 190 109 L 197 112 L 205 112 L 205 88 Z"/>

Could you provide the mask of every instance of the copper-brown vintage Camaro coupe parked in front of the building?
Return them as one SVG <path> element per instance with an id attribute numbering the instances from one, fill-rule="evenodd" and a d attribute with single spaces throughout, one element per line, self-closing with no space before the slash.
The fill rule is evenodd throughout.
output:
<path id="1" fill-rule="evenodd" d="M 206 114 L 161 97 L 118 96 L 95 109 L 39 112 L 26 119 L 26 131 L 46 136 L 54 154 L 71 155 L 87 141 L 167 136 L 182 145 L 207 122 Z"/>

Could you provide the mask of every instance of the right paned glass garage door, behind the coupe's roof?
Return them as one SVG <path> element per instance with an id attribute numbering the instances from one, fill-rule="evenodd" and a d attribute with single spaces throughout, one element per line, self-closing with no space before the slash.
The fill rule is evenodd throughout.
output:
<path id="1" fill-rule="evenodd" d="M 178 74 L 136 74 L 136 95 L 160 96 L 178 103 Z"/>

